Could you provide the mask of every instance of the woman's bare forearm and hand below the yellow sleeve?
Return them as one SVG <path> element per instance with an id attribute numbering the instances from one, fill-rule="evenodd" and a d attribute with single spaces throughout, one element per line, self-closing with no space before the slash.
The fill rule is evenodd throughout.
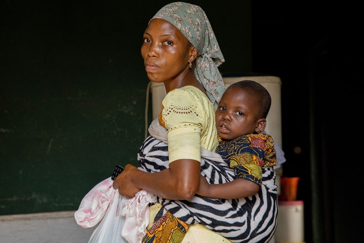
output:
<path id="1" fill-rule="evenodd" d="M 162 198 L 189 200 L 199 188 L 200 167 L 200 162 L 193 159 L 175 160 L 169 163 L 169 168 L 156 173 L 126 165 L 125 170 L 116 177 L 113 187 L 129 197 L 145 189 Z"/>

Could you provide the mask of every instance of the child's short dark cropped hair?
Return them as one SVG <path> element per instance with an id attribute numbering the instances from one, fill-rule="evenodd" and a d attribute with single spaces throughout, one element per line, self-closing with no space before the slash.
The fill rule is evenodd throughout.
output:
<path id="1" fill-rule="evenodd" d="M 257 103 L 256 105 L 258 107 L 257 119 L 266 118 L 270 109 L 271 98 L 269 92 L 261 84 L 253 80 L 241 80 L 239 82 L 233 83 L 227 89 L 230 87 L 239 87 L 249 95 L 255 96 Z"/>

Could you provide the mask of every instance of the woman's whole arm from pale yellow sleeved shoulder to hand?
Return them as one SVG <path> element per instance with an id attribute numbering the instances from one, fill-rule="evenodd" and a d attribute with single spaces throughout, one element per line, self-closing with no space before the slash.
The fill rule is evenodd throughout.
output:
<path id="1" fill-rule="evenodd" d="M 165 128 L 168 140 L 168 165 L 160 172 L 143 172 L 127 165 L 114 181 L 114 188 L 121 194 L 133 197 L 141 189 L 165 199 L 189 200 L 197 192 L 201 173 L 201 134 L 202 130 L 215 127 L 205 120 L 213 116 L 211 102 L 200 91 L 180 88 L 168 92 L 162 102 L 159 124 Z M 201 96 L 202 98 L 199 98 Z M 190 107 L 188 112 L 178 110 Z M 208 113 L 205 114 L 206 107 Z M 177 110 L 177 111 L 176 111 Z M 198 114 L 198 115 L 196 115 Z M 164 130 L 163 130 L 164 131 Z M 217 143 L 217 134 L 216 137 Z M 213 148 L 214 149 L 214 148 Z"/>

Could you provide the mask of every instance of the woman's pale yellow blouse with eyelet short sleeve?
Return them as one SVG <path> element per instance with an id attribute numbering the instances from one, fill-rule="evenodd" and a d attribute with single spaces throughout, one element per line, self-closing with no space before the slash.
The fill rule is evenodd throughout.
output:
<path id="1" fill-rule="evenodd" d="M 175 89 L 167 94 L 162 105 L 169 163 L 183 158 L 201 161 L 201 147 L 215 149 L 214 106 L 200 90 L 192 86 Z"/>

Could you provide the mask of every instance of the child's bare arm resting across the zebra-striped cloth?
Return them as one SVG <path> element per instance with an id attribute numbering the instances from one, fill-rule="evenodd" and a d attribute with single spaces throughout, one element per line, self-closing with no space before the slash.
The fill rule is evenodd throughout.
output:
<path id="1" fill-rule="evenodd" d="M 235 199 L 255 195 L 259 190 L 258 184 L 242 178 L 222 184 L 209 184 L 201 175 L 197 194 L 210 198 Z"/>

